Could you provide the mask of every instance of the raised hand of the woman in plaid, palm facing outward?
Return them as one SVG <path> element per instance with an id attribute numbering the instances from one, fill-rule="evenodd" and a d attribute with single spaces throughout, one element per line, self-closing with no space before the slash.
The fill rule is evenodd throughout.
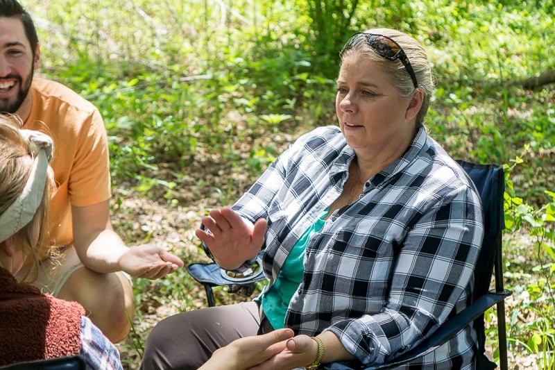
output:
<path id="1" fill-rule="evenodd" d="M 237 269 L 255 258 L 264 244 L 268 221 L 258 219 L 250 226 L 229 207 L 211 210 L 209 215 L 202 221 L 210 233 L 197 229 L 196 236 L 206 244 L 221 267 Z"/>

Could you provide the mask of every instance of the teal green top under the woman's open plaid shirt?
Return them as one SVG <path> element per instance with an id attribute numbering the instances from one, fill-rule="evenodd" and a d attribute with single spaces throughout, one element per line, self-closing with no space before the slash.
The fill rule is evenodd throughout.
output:
<path id="1" fill-rule="evenodd" d="M 327 211 L 328 209 L 326 208 L 314 224 L 298 239 L 291 252 L 289 252 L 280 274 L 278 274 L 278 278 L 275 279 L 275 283 L 273 283 L 267 292 L 262 294 L 262 309 L 274 329 L 284 327 L 283 323 L 285 322 L 285 314 L 289 301 L 291 301 L 293 294 L 295 294 L 302 281 L 302 274 L 304 272 L 302 262 L 305 259 L 305 249 L 310 237 L 322 230 Z"/>

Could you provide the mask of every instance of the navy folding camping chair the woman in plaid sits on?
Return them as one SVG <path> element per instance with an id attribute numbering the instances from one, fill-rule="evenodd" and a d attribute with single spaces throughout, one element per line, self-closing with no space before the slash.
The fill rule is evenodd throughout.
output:
<path id="1" fill-rule="evenodd" d="M 479 254 L 479 269 L 475 270 L 475 290 L 472 296 L 472 304 L 465 310 L 455 314 L 448 321 L 443 323 L 425 341 L 420 342 L 409 351 L 394 358 L 385 364 L 371 367 L 364 367 L 355 362 L 332 362 L 322 365 L 321 369 L 326 370 L 377 370 L 393 369 L 402 364 L 420 358 L 427 353 L 431 353 L 436 348 L 451 339 L 468 323 L 474 321 L 478 332 L 479 359 L 477 369 L 494 369 L 495 364 L 486 358 L 485 344 L 486 334 L 484 329 L 484 312 L 493 305 L 497 305 L 497 335 L 499 339 L 499 367 L 502 370 L 508 369 L 507 348 L 506 348 L 506 328 L 505 328 L 505 304 L 504 298 L 512 294 L 511 291 L 504 289 L 503 286 L 503 254 L 502 254 L 502 232 L 504 229 L 504 173 L 503 167 L 499 165 L 477 165 L 463 160 L 458 161 L 465 169 L 472 181 L 474 181 L 484 205 L 484 241 Z M 203 284 L 207 292 L 209 305 L 215 305 L 212 287 L 219 285 L 230 285 L 232 289 L 244 289 L 241 293 L 252 294 L 253 284 L 256 281 L 264 280 L 262 269 L 252 271 L 250 276 L 225 278 L 227 271 L 223 271 L 216 264 L 194 263 L 187 267 L 189 274 Z M 490 289 L 492 275 L 495 272 L 495 289 Z M 245 292 L 246 291 L 246 292 Z"/>

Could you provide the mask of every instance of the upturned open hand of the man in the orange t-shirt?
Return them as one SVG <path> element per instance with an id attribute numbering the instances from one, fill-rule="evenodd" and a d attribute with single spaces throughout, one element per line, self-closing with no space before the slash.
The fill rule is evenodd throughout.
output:
<path id="1" fill-rule="evenodd" d="M 158 279 L 183 267 L 183 261 L 161 246 L 144 244 L 131 247 L 121 255 L 119 265 L 135 278 Z"/>

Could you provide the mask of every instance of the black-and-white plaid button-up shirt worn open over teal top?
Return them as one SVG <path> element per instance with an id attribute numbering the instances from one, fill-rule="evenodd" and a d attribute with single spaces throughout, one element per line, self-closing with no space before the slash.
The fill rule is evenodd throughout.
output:
<path id="1" fill-rule="evenodd" d="M 338 127 L 316 128 L 233 205 L 251 222 L 268 220 L 269 285 L 300 235 L 341 194 L 354 157 Z M 331 330 L 364 364 L 396 357 L 468 305 L 483 235 L 472 181 L 420 128 L 404 155 L 311 237 L 285 326 L 307 335 Z M 476 336 L 468 326 L 418 364 L 470 369 Z"/>

